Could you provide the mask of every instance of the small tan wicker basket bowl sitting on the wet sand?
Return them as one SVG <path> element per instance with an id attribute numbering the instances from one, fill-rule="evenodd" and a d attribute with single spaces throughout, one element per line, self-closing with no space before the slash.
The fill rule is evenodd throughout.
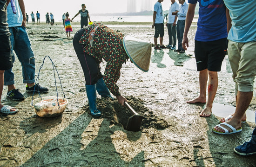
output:
<path id="1" fill-rule="evenodd" d="M 37 99 L 33 100 L 33 104 L 39 103 L 40 101 L 52 101 L 54 98 L 56 98 L 56 96 L 47 96 L 47 97 L 39 97 Z M 34 106 L 32 105 L 32 107 L 34 108 L 35 113 L 40 116 L 40 117 L 55 117 L 55 116 L 60 116 L 68 103 L 68 100 L 66 98 L 63 97 L 58 97 L 58 101 L 59 105 L 56 104 L 54 107 L 51 108 L 46 108 L 46 109 L 35 109 Z"/>

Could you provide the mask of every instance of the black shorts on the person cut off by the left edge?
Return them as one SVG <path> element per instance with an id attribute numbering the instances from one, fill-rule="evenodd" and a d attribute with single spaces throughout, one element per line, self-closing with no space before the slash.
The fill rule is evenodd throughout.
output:
<path id="1" fill-rule="evenodd" d="M 1 35 L 0 39 L 0 70 L 9 70 L 13 67 L 10 36 Z"/>

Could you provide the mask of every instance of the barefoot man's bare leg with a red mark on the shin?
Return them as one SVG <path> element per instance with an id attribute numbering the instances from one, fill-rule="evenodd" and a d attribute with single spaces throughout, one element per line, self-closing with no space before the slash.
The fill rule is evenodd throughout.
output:
<path id="1" fill-rule="evenodd" d="M 209 84 L 208 84 L 208 99 L 205 109 L 202 110 L 200 116 L 208 117 L 212 113 L 212 103 L 218 89 L 218 73 L 216 71 L 208 71 Z"/>

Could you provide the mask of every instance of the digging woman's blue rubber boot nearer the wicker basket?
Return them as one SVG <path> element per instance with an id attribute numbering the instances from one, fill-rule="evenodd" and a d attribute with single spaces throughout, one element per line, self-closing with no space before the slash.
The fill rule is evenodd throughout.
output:
<path id="1" fill-rule="evenodd" d="M 101 111 L 99 111 L 96 106 L 96 97 L 97 97 L 96 84 L 85 85 L 85 89 L 86 89 L 86 94 L 88 97 L 89 107 L 90 107 L 90 111 L 91 111 L 92 115 L 95 117 L 100 117 Z"/>

